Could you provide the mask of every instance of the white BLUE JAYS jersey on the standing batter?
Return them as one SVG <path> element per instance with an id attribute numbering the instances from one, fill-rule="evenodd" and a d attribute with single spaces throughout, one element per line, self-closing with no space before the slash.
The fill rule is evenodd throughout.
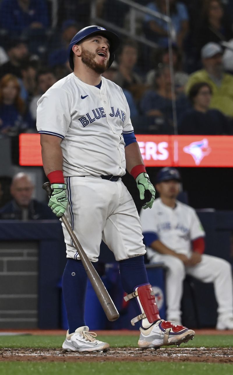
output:
<path id="1" fill-rule="evenodd" d="M 102 77 L 99 89 L 71 73 L 37 104 L 38 132 L 62 138 L 64 177 L 125 174 L 122 134 L 133 126 L 119 86 Z"/>

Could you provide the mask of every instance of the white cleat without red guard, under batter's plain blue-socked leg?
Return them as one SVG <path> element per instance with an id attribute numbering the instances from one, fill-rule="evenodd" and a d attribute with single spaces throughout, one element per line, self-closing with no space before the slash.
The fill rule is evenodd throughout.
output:
<path id="1" fill-rule="evenodd" d="M 96 333 L 89 332 L 87 326 L 79 327 L 74 333 L 67 331 L 66 339 L 63 342 L 62 348 L 66 351 L 72 352 L 106 352 L 109 350 L 109 344 L 96 340 Z"/>

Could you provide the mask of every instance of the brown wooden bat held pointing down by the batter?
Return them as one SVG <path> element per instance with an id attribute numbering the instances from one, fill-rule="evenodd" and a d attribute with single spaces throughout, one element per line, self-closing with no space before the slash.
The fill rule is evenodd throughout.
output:
<path id="1" fill-rule="evenodd" d="M 50 183 L 46 182 L 43 184 L 42 187 L 44 190 L 46 190 L 46 192 L 48 193 L 50 197 L 52 193 Z M 96 295 L 100 301 L 103 311 L 106 314 L 106 317 L 111 322 L 113 322 L 114 320 L 117 320 L 119 318 L 119 313 L 117 311 L 117 308 L 114 305 L 111 297 L 109 296 L 108 291 L 106 290 L 105 286 L 103 285 L 103 282 L 100 279 L 100 276 L 98 275 L 95 268 L 93 267 L 93 264 L 91 263 L 90 259 L 88 258 L 82 246 L 80 245 L 77 237 L 73 233 L 73 230 L 64 214 L 63 216 L 61 216 L 61 220 L 64 223 L 64 226 L 66 227 L 70 237 L 72 238 L 73 243 L 75 244 L 75 248 L 78 251 L 78 254 L 82 261 L 84 269 L 87 272 L 87 276 L 91 282 L 91 285 L 93 286 L 94 291 L 96 292 Z M 94 311 L 93 311 L 93 314 L 94 314 Z"/>

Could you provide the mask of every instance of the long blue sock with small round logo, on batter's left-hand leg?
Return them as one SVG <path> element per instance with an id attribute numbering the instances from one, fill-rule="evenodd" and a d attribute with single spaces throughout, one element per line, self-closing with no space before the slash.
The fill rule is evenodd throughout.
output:
<path id="1" fill-rule="evenodd" d="M 85 326 L 84 306 L 87 273 L 80 260 L 68 259 L 62 277 L 62 292 L 66 306 L 69 333 Z"/>

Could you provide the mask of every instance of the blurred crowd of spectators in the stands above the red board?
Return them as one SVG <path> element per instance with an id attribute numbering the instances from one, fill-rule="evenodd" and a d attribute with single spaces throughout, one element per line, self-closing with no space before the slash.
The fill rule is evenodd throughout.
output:
<path id="1" fill-rule="evenodd" d="M 151 15 L 138 15 L 137 34 L 157 48 L 122 36 L 104 76 L 124 90 L 135 132 L 174 133 L 173 98 L 179 134 L 233 134 L 233 1 L 169 2 L 176 31 L 173 77 L 167 23 Z M 99 17 L 128 28 L 127 5 L 96 3 Z M 167 14 L 165 0 L 137 3 Z M 36 132 L 37 100 L 72 72 L 67 47 L 79 29 L 90 25 L 91 1 L 57 0 L 57 6 L 54 24 L 50 0 L 0 1 L 1 137 Z"/>

